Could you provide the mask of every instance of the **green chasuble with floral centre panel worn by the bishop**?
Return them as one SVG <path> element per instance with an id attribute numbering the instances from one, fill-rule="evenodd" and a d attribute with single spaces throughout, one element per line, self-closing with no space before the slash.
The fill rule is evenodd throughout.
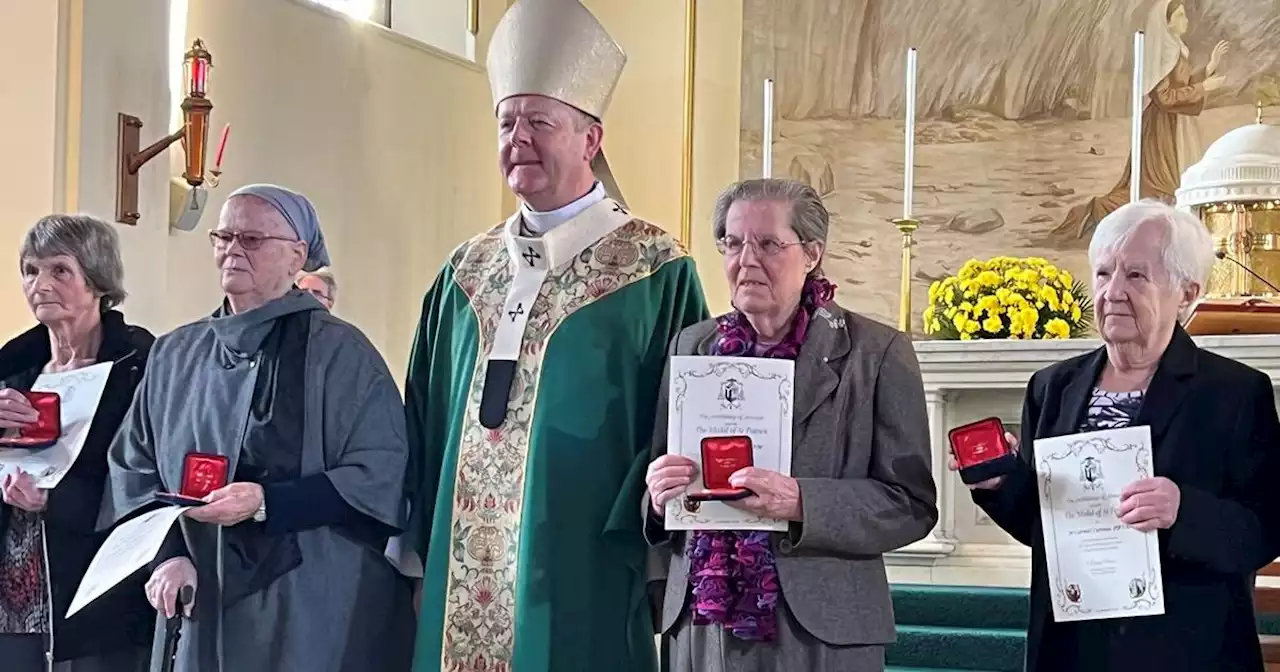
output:
<path id="1" fill-rule="evenodd" d="M 413 669 L 652 672 L 640 502 L 667 347 L 707 319 L 701 285 L 613 200 L 541 237 L 520 224 L 458 247 L 422 302 Z"/>

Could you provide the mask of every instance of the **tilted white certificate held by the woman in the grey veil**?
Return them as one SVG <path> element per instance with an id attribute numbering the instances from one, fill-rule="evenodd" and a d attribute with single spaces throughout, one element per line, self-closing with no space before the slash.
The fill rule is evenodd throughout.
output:
<path id="1" fill-rule="evenodd" d="M 154 561 L 169 536 L 169 529 L 184 511 L 186 507 L 157 508 L 111 530 L 106 541 L 102 541 L 102 548 L 90 561 L 88 570 L 84 570 L 84 579 L 72 598 L 65 618 Z"/>

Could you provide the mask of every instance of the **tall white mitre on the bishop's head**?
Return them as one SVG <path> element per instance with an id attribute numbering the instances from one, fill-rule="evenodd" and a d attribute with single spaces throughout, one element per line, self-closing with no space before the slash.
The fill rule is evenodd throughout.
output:
<path id="1" fill-rule="evenodd" d="M 485 68 L 494 111 L 511 96 L 538 95 L 604 119 L 627 55 L 579 0 L 518 0 L 498 22 Z M 604 150 L 591 172 L 626 205 Z"/>

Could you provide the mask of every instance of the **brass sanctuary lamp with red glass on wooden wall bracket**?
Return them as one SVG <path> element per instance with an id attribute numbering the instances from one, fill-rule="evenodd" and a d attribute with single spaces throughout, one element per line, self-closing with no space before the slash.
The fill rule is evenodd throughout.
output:
<path id="1" fill-rule="evenodd" d="M 174 142 L 182 141 L 186 154 L 183 179 L 192 187 L 205 183 L 205 155 L 209 148 L 209 115 L 214 104 L 206 97 L 209 70 L 214 59 L 205 49 L 205 42 L 197 38 L 183 59 L 187 82 L 187 97 L 182 101 L 182 128 L 174 131 L 146 148 L 141 146 L 142 119 L 124 113 L 118 115 L 116 178 L 115 178 L 115 220 L 122 224 L 137 224 L 138 212 L 138 170 L 155 159 Z"/>

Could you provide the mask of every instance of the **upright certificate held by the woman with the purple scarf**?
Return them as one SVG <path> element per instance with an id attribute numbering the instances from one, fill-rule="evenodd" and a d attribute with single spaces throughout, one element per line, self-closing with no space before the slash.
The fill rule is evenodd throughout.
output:
<path id="1" fill-rule="evenodd" d="M 751 465 L 791 475 L 795 362 L 764 357 L 671 358 L 667 452 L 701 465 L 705 438 L 750 436 Z M 705 489 L 701 472 L 687 490 Z M 667 503 L 668 530 L 776 530 L 787 521 L 762 518 L 724 502 Z"/>

